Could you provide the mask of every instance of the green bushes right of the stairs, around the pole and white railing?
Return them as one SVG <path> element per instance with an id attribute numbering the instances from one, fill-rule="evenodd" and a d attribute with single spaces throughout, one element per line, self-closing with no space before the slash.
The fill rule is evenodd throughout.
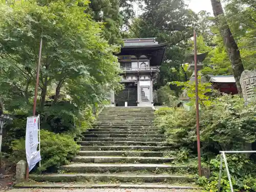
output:
<path id="1" fill-rule="evenodd" d="M 202 160 L 211 170 L 209 179 L 199 178 L 205 191 L 216 192 L 219 180 L 220 151 L 250 151 L 256 143 L 255 103 L 244 104 L 239 96 L 224 95 L 200 109 Z M 166 141 L 183 149 L 179 162 L 197 154 L 196 111 L 183 108 L 163 108 L 156 112 L 155 125 L 166 135 Z M 184 147 L 186 150 L 184 150 Z M 217 157 L 216 157 L 217 156 Z M 189 157 L 190 158 L 190 157 Z M 235 191 L 255 191 L 256 163 L 253 155 L 227 155 Z M 224 166 L 225 167 L 225 166 Z M 230 191 L 225 170 L 221 191 Z"/>

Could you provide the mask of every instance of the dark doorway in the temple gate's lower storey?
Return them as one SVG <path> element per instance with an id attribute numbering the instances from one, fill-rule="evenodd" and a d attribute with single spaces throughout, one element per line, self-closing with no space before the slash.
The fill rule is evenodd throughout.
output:
<path id="1" fill-rule="evenodd" d="M 124 83 L 125 89 L 116 95 L 116 106 L 124 106 L 127 102 L 128 106 L 137 106 L 137 84 L 134 82 Z"/>

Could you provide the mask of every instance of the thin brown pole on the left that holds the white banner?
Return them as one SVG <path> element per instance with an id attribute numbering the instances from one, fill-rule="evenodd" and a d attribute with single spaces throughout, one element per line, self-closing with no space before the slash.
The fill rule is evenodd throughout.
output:
<path id="1" fill-rule="evenodd" d="M 37 64 L 37 73 L 36 73 L 36 83 L 35 83 L 35 96 L 34 96 L 34 105 L 33 105 L 33 116 L 35 116 L 36 112 L 36 101 L 37 101 L 37 90 L 38 90 L 38 84 L 39 84 L 39 72 L 40 72 L 40 64 L 41 64 L 41 54 L 42 54 L 42 37 L 40 40 L 40 48 L 39 48 L 39 58 L 38 58 L 38 64 Z M 27 173 L 26 173 L 26 179 L 29 179 L 29 166 L 27 165 Z"/>

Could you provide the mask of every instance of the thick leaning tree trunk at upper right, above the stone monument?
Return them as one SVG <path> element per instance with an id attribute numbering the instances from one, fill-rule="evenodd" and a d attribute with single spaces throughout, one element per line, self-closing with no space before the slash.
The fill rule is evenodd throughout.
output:
<path id="1" fill-rule="evenodd" d="M 242 88 L 240 84 L 240 77 L 244 71 L 243 62 L 241 59 L 240 51 L 236 40 L 229 29 L 229 26 L 226 22 L 224 11 L 221 5 L 220 0 L 211 0 L 212 10 L 214 11 L 214 16 L 217 21 L 218 28 L 221 32 L 224 45 L 227 49 L 229 59 L 231 61 L 232 71 L 234 79 L 236 80 L 238 92 L 242 94 Z"/>

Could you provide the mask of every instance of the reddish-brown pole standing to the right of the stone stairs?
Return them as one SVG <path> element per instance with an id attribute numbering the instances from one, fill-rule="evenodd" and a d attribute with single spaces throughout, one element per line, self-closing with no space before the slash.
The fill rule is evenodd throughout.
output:
<path id="1" fill-rule="evenodd" d="M 198 174 L 202 176 L 201 150 L 200 150 L 200 130 L 199 130 L 199 97 L 198 97 L 198 77 L 197 77 L 197 33 L 194 31 L 195 44 L 195 81 L 196 81 L 196 113 L 197 113 L 197 154 L 198 154 Z"/>

